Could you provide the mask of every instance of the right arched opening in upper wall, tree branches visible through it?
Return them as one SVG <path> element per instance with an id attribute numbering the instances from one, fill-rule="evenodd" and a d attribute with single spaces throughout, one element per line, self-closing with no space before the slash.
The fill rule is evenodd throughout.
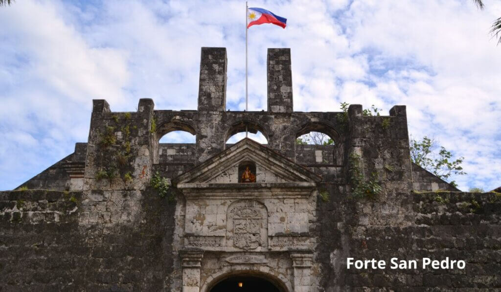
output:
<path id="1" fill-rule="evenodd" d="M 306 165 L 342 165 L 341 136 L 331 126 L 308 123 L 296 133 L 296 162 Z"/>

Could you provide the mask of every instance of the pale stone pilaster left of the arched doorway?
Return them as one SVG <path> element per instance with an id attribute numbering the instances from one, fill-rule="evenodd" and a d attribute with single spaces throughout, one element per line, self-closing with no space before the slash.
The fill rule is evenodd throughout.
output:
<path id="1" fill-rule="evenodd" d="M 184 249 L 179 251 L 179 255 L 183 268 L 183 292 L 199 292 L 203 250 Z"/>

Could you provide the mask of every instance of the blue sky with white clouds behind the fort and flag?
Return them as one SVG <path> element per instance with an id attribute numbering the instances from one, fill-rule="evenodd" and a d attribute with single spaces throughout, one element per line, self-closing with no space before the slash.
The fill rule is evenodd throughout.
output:
<path id="1" fill-rule="evenodd" d="M 267 48 L 291 48 L 294 108 L 407 105 L 409 132 L 434 137 L 467 175 L 501 186 L 501 1 L 256 1 L 287 28 L 249 30 L 249 109 L 266 110 Z M 227 105 L 245 107 L 244 1 L 35 1 L 0 7 L 0 190 L 88 136 L 92 99 L 134 111 L 196 109 L 200 47 L 226 47 Z M 171 141 L 192 138 L 172 133 Z"/>

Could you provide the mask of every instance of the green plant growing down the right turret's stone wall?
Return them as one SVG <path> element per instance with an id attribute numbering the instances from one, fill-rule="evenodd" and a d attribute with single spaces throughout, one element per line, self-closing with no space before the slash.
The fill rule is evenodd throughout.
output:
<path id="1" fill-rule="evenodd" d="M 377 173 L 371 173 L 367 179 L 361 168 L 360 155 L 351 153 L 349 156 L 349 174 L 352 185 L 352 195 L 356 198 L 376 200 L 383 192 Z"/>

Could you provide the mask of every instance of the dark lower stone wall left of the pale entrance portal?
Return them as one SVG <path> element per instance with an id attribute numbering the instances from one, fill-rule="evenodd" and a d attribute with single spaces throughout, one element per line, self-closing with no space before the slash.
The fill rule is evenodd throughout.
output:
<path id="1" fill-rule="evenodd" d="M 0 290 L 170 290 L 173 215 L 148 191 L 0 192 Z"/>

